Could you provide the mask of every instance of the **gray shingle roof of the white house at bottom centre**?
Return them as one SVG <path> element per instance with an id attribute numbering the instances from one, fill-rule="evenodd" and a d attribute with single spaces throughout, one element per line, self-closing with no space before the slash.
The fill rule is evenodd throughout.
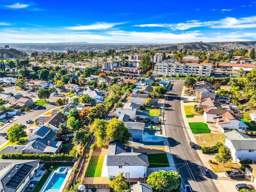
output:
<path id="1" fill-rule="evenodd" d="M 109 143 L 107 166 L 149 166 L 147 153 L 134 153 L 119 140 Z"/>

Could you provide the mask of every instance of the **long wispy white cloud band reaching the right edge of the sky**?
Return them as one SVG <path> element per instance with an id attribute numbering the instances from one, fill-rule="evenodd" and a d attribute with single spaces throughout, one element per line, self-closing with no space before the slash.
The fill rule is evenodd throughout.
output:
<path id="1" fill-rule="evenodd" d="M 233 18 L 226 17 L 216 21 L 204 21 L 190 20 L 185 23 L 174 24 L 141 24 L 134 25 L 137 27 L 167 27 L 173 30 L 187 30 L 195 27 L 210 27 L 210 28 L 256 28 L 256 16 Z"/>

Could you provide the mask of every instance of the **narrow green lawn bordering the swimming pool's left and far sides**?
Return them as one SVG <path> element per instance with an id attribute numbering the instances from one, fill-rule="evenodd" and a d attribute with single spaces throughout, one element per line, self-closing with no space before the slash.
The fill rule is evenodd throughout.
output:
<path id="1" fill-rule="evenodd" d="M 53 168 L 51 168 L 51 166 L 53 166 Z M 73 164 L 44 164 L 44 167 L 48 170 L 47 174 L 45 174 L 44 176 L 42 176 L 41 180 L 38 182 L 38 184 L 36 185 L 35 189 L 33 190 L 33 192 L 40 192 L 41 188 L 43 187 L 44 183 L 46 182 L 47 178 L 50 176 L 51 172 L 53 170 L 57 170 L 58 167 L 60 166 L 70 166 L 73 167 Z"/>

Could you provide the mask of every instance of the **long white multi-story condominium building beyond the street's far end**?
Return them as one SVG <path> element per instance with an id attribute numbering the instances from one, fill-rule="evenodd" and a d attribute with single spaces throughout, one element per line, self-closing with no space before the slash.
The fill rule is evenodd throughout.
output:
<path id="1" fill-rule="evenodd" d="M 170 75 L 200 75 L 200 76 L 210 76 L 212 72 L 211 64 L 189 64 L 180 63 L 174 60 L 168 60 L 166 62 L 156 63 L 154 66 L 154 74 L 162 76 Z"/>

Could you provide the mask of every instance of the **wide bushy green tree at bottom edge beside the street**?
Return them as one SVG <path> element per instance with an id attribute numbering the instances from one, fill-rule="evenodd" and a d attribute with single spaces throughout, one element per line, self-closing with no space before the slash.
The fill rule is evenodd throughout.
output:
<path id="1" fill-rule="evenodd" d="M 156 191 L 178 190 L 181 185 L 181 176 L 176 171 L 166 172 L 160 170 L 153 172 L 148 176 L 147 183 Z"/>

